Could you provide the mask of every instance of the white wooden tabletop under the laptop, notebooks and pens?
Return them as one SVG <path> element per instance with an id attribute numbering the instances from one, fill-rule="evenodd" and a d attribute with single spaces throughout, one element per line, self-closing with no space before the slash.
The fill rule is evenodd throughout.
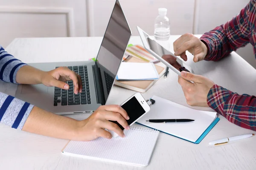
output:
<path id="1" fill-rule="evenodd" d="M 171 37 L 174 42 L 179 36 Z M 6 50 L 23 62 L 58 62 L 81 61 L 96 57 L 102 37 L 83 38 L 22 38 L 15 39 Z M 130 43 L 141 44 L 139 37 L 132 37 Z M 239 94 L 256 95 L 256 70 L 238 54 L 220 62 L 192 62 L 188 54 L 188 63 L 195 73 L 212 79 L 216 84 Z M 252 56 L 253 57 L 253 56 Z M 15 93 L 15 85 L 1 83 L 0 90 L 9 94 Z M 8 87 L 8 89 L 6 89 Z M 122 94 L 122 95 L 120 95 Z M 114 86 L 108 103 L 120 104 L 134 91 Z M 146 93 L 145 98 L 157 95 L 186 105 L 186 99 L 177 74 L 170 71 L 167 79 L 160 78 Z M 197 108 L 212 111 L 210 108 Z M 86 115 L 73 116 L 83 119 Z M 192 144 L 184 140 L 160 133 L 151 161 L 147 167 L 134 167 L 113 164 L 103 161 L 81 159 L 61 154 L 67 140 L 54 139 L 15 130 L 0 125 L 0 169 L 72 169 L 72 170 L 160 170 L 160 169 L 197 169 L 197 170 L 255 170 L 256 138 L 233 142 L 218 147 L 210 147 L 208 142 L 229 136 L 253 133 L 228 122 L 222 116 L 217 125 L 208 133 L 200 144 Z"/>

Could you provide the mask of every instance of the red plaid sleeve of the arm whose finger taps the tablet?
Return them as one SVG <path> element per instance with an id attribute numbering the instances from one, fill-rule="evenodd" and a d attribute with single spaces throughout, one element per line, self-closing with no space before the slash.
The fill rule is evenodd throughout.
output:
<path id="1" fill-rule="evenodd" d="M 255 6 L 255 0 L 251 0 L 232 20 L 205 33 L 200 38 L 208 48 L 205 60 L 218 61 L 250 42 L 249 21 L 251 17 L 254 17 L 253 21 L 255 20 Z"/>

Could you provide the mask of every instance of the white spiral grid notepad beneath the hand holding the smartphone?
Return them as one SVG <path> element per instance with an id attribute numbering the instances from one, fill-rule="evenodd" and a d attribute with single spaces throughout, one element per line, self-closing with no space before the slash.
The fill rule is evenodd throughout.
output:
<path id="1" fill-rule="evenodd" d="M 159 134 L 156 130 L 131 127 L 125 138 L 98 138 L 90 142 L 70 141 L 62 150 L 69 156 L 147 166 Z"/>

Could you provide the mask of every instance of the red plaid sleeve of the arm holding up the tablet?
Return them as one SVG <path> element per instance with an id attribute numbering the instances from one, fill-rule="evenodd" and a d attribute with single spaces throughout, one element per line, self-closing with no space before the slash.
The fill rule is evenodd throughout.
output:
<path id="1" fill-rule="evenodd" d="M 256 131 L 256 96 L 239 95 L 214 85 L 208 93 L 207 103 L 230 122 Z"/>

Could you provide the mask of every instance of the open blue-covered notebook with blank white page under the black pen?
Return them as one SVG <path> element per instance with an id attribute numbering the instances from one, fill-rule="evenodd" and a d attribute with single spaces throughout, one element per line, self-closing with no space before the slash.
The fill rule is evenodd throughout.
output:
<path id="1" fill-rule="evenodd" d="M 216 112 L 198 111 L 175 102 L 153 96 L 156 102 L 138 124 L 159 130 L 177 138 L 199 144 L 220 120 Z M 187 123 L 148 123 L 148 119 L 193 119 Z"/>

